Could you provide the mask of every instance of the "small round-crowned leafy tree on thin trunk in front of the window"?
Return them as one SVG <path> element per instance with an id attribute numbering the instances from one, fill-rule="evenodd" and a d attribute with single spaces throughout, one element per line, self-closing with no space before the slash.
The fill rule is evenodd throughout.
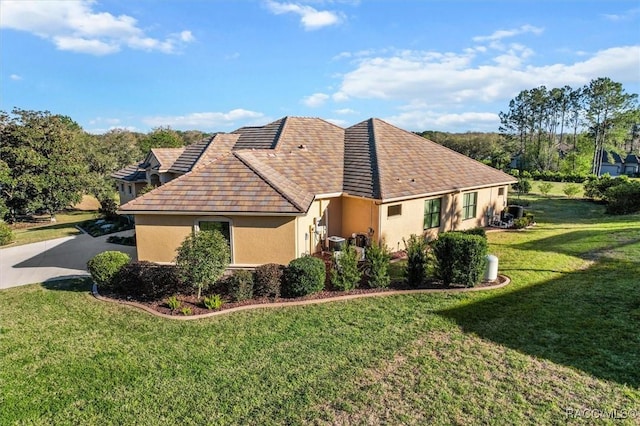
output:
<path id="1" fill-rule="evenodd" d="M 189 235 L 178 248 L 176 266 L 180 277 L 202 290 L 222 277 L 231 261 L 229 244 L 220 231 L 201 231 Z"/>

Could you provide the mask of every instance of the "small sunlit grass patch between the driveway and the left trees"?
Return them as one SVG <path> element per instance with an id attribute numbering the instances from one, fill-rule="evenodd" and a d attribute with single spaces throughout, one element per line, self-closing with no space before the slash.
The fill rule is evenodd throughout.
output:
<path id="1" fill-rule="evenodd" d="M 95 211 L 71 210 L 58 213 L 55 223 L 45 223 L 39 226 L 16 229 L 13 231 L 13 245 L 37 243 L 54 238 L 70 237 L 80 234 L 77 225 L 85 220 L 95 219 L 98 213 Z"/>

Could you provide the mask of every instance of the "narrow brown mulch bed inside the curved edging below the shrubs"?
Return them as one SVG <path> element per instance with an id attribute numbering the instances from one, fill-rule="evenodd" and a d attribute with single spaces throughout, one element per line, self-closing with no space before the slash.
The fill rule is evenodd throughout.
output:
<path id="1" fill-rule="evenodd" d="M 482 282 L 478 285 L 476 285 L 474 288 L 483 288 L 483 287 L 491 287 L 491 286 L 495 286 L 497 284 L 502 284 L 503 282 L 505 282 L 505 277 L 499 275 L 498 276 L 498 282 Z M 337 291 L 337 290 L 325 290 L 325 291 L 321 291 L 319 293 L 315 293 L 315 294 L 311 294 L 308 296 L 304 296 L 304 297 L 296 297 L 296 298 L 256 298 L 256 299 L 250 299 L 250 300 L 244 300 L 242 302 L 225 302 L 222 307 L 216 311 L 225 311 L 225 310 L 229 310 L 232 308 L 236 308 L 239 306 L 247 306 L 247 305 L 265 305 L 265 304 L 272 304 L 275 302 L 278 303 L 282 303 L 282 302 L 299 302 L 299 301 L 308 301 L 308 300 L 320 300 L 320 299 L 329 299 L 329 298 L 336 298 L 339 296 L 349 296 L 349 295 L 358 295 L 358 294 L 371 294 L 371 293 L 385 293 L 385 292 L 391 292 L 391 291 L 398 291 L 398 290 L 462 290 L 465 289 L 466 287 L 460 286 L 460 285 L 451 285 L 451 286 L 444 286 L 441 282 L 438 281 L 432 281 L 430 283 L 427 283 L 425 286 L 419 287 L 419 288 L 415 288 L 415 287 L 407 287 L 404 286 L 401 283 L 392 283 L 392 285 L 389 288 L 357 288 L 351 291 Z M 150 308 L 158 313 L 161 314 L 165 314 L 165 315 L 172 315 L 172 316 L 184 316 L 181 312 L 182 308 L 189 308 L 191 309 L 191 315 L 202 315 L 202 314 L 208 314 L 211 312 L 215 312 L 212 311 L 210 309 L 207 309 L 206 307 L 204 307 L 204 305 L 202 304 L 202 301 L 198 301 L 195 295 L 187 295 L 187 294 L 177 294 L 176 298 L 180 301 L 180 308 L 178 308 L 175 311 L 172 311 L 166 303 L 166 298 L 161 299 L 161 300 L 148 300 L 148 299 L 144 299 L 144 298 L 137 298 L 137 297 L 133 297 L 133 296 L 127 296 L 127 295 L 122 295 L 122 294 L 115 294 L 115 293 L 108 293 L 108 292 L 100 292 L 100 295 L 102 297 L 108 298 L 108 299 L 112 299 L 114 301 L 121 301 L 121 302 L 135 302 L 138 304 L 141 304 L 143 306 L 146 306 L 147 308 Z"/>

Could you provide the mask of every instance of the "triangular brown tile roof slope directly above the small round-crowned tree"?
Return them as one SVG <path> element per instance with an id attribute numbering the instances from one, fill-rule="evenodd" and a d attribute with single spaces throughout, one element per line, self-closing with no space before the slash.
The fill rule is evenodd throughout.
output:
<path id="1" fill-rule="evenodd" d="M 229 153 L 129 201 L 120 211 L 299 214 L 308 207 L 295 205 Z"/>

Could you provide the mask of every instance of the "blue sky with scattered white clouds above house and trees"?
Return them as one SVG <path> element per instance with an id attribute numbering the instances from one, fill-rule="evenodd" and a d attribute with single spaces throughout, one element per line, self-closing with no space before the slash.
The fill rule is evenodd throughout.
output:
<path id="1" fill-rule="evenodd" d="M 598 77 L 640 92 L 638 0 L 0 0 L 0 110 L 93 133 L 497 131 L 521 90 Z"/>

